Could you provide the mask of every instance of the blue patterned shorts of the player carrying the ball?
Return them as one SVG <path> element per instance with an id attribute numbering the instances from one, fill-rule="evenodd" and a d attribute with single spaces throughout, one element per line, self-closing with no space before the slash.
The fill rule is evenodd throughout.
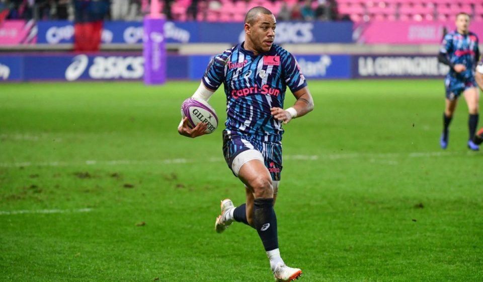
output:
<path id="1" fill-rule="evenodd" d="M 243 156 L 242 160 L 238 158 L 233 163 L 235 158 L 241 153 L 244 153 L 240 155 Z M 238 176 L 241 165 L 247 161 L 259 159 L 265 163 L 265 167 L 270 172 L 272 180 L 280 180 L 280 174 L 282 172 L 282 144 L 280 142 L 262 142 L 259 139 L 225 130 L 223 131 L 223 156 L 225 157 L 226 164 L 235 176 Z"/>

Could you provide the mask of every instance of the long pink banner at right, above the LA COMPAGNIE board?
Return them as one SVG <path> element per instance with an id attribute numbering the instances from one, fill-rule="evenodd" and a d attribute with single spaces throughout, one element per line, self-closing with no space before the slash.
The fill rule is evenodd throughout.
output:
<path id="1" fill-rule="evenodd" d="M 455 30 L 454 22 L 369 22 L 355 25 L 354 38 L 364 44 L 439 44 L 444 28 Z M 483 22 L 469 30 L 483 40 Z"/>

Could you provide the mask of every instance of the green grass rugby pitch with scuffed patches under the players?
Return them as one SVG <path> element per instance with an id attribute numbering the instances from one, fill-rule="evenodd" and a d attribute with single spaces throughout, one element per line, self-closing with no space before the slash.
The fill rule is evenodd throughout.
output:
<path id="1" fill-rule="evenodd" d="M 272 281 L 254 230 L 214 232 L 219 201 L 245 196 L 221 125 L 176 130 L 198 85 L 0 85 L 0 281 Z M 314 111 L 284 125 L 275 206 L 301 281 L 482 281 L 483 153 L 466 148 L 464 101 L 443 151 L 442 80 L 309 88 Z M 210 103 L 224 122 L 222 90 Z"/>

